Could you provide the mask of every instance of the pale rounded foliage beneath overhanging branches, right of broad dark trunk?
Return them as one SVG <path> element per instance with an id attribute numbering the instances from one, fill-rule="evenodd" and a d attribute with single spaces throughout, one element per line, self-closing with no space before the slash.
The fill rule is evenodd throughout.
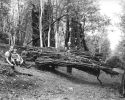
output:
<path id="1" fill-rule="evenodd" d="M 107 35 L 102 34 L 93 34 L 86 36 L 86 42 L 89 47 L 90 52 L 95 55 L 95 53 L 103 54 L 103 60 L 109 57 L 110 50 L 110 42 L 107 38 Z"/>

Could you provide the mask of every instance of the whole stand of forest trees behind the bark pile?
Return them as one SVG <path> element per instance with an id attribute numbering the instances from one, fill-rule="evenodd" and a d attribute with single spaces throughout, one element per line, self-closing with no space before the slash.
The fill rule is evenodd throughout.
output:
<path id="1" fill-rule="evenodd" d="M 110 52 L 97 0 L 1 0 L 0 10 L 2 43 Z"/>

